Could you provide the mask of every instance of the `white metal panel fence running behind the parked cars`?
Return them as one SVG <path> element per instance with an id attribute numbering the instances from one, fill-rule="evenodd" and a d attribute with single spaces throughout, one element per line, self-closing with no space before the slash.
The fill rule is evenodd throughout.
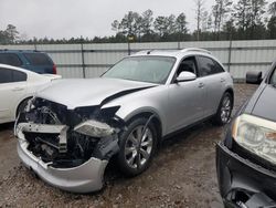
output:
<path id="1" fill-rule="evenodd" d="M 0 45 L 0 49 L 44 51 L 63 77 L 95 77 L 137 51 L 188 46 L 211 51 L 236 80 L 243 80 L 248 70 L 265 72 L 276 59 L 276 40 Z"/>

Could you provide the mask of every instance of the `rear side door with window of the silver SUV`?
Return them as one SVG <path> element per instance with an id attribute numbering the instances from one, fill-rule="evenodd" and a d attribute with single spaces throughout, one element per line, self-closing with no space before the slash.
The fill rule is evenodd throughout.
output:
<path id="1" fill-rule="evenodd" d="M 225 71 L 209 56 L 198 55 L 200 82 L 206 90 L 204 117 L 215 114 L 225 89 Z M 224 72 L 224 73 L 223 73 Z"/>

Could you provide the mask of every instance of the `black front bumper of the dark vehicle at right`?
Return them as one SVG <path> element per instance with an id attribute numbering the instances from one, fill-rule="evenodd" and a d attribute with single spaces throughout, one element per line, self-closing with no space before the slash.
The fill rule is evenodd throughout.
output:
<path id="1" fill-rule="evenodd" d="M 276 174 L 216 145 L 219 188 L 225 207 L 276 207 Z"/>

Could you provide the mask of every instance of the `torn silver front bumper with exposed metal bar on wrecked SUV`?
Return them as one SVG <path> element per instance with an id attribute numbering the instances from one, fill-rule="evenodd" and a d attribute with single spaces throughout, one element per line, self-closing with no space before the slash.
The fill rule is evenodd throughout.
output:
<path id="1" fill-rule="evenodd" d="M 91 157 L 81 165 L 73 167 L 56 167 L 52 162 L 43 162 L 29 149 L 30 143 L 25 138 L 24 133 L 41 133 L 41 134 L 59 134 L 60 153 L 66 150 L 66 125 L 47 125 L 20 123 L 15 126 L 14 133 L 18 137 L 18 155 L 23 164 L 32 169 L 40 178 L 47 184 L 59 187 L 63 190 L 73 193 L 91 193 L 103 188 L 104 171 L 108 164 L 106 158 Z M 104 155 L 113 150 L 115 154 L 118 150 L 118 141 L 102 144 L 103 149 L 97 149 Z M 100 142 L 99 142 L 100 144 Z M 109 153 L 110 154 L 110 153 Z"/>

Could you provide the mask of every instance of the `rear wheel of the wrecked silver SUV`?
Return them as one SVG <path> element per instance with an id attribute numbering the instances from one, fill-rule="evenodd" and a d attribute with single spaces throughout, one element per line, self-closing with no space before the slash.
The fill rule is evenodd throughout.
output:
<path id="1" fill-rule="evenodd" d="M 225 92 L 221 98 L 221 103 L 214 116 L 214 124 L 222 126 L 227 124 L 231 119 L 231 113 L 233 110 L 233 96 Z"/>

